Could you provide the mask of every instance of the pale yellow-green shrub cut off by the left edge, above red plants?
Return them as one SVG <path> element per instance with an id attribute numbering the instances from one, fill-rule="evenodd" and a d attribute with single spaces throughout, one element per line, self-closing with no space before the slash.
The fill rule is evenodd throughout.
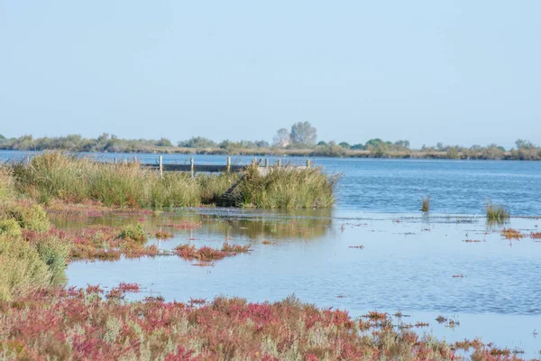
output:
<path id="1" fill-rule="evenodd" d="M 50 284 L 38 252 L 20 237 L 0 235 L 0 301 L 10 301 Z"/>

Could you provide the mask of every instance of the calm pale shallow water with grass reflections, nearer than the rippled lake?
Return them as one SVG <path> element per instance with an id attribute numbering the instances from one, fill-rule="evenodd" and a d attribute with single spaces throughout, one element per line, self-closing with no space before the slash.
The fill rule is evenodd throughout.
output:
<path id="1" fill-rule="evenodd" d="M 166 229 L 165 219 L 202 222 L 168 241 L 150 240 L 162 249 L 190 242 L 221 246 L 251 244 L 252 253 L 193 266 L 177 256 L 76 262 L 69 284 L 112 287 L 138 282 L 145 292 L 166 300 L 212 300 L 216 295 L 249 301 L 278 301 L 295 293 L 320 307 L 335 307 L 360 316 L 369 310 L 426 321 L 449 341 L 481 337 L 500 347 L 517 347 L 536 357 L 541 349 L 541 243 L 530 237 L 505 240 L 502 227 L 538 232 L 541 220 L 512 218 L 488 225 L 484 218 L 362 214 L 349 211 L 273 213 L 234 209 L 188 209 L 177 215 L 149 216 L 148 230 Z M 136 218 L 94 218 L 90 223 L 122 224 Z M 78 222 L 58 219 L 63 227 Z M 481 240 L 465 243 L 465 239 Z M 263 245 L 269 240 L 272 245 Z M 363 245 L 363 248 L 350 246 Z M 463 278 L 454 278 L 461 274 Z M 444 315 L 460 322 L 454 329 L 436 322 Z"/>

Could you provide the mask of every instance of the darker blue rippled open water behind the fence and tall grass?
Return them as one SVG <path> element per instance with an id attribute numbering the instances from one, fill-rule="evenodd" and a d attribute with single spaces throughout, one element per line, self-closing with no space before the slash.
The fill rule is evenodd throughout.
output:
<path id="1" fill-rule="evenodd" d="M 0 151 L 0 160 L 23 159 L 26 152 Z M 125 153 L 93 153 L 112 160 L 132 159 Z M 157 154 L 135 154 L 141 162 L 158 162 Z M 190 155 L 164 154 L 163 162 L 188 163 Z M 225 164 L 224 155 L 193 155 L 195 162 Z M 271 162 L 277 158 L 269 157 Z M 306 159 L 281 158 L 304 163 Z M 432 211 L 445 214 L 481 214 L 487 199 L 504 204 L 511 214 L 541 215 L 541 162 L 427 161 L 351 158 L 313 158 L 329 173 L 343 175 L 337 187 L 338 209 L 402 213 L 417 212 L 421 198 L 432 199 Z M 252 157 L 233 157 L 234 163 Z"/>

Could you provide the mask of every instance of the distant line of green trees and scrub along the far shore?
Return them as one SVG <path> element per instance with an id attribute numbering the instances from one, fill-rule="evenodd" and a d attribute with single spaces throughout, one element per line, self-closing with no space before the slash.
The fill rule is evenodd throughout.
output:
<path id="1" fill-rule="evenodd" d="M 6 138 L 0 134 L 1 150 L 45 151 L 66 150 L 71 152 L 107 153 L 233 153 L 233 154 L 289 154 L 307 156 L 352 156 L 352 157 L 393 157 L 393 158 L 445 158 L 445 159 L 517 159 L 541 160 L 541 148 L 527 140 L 518 139 L 515 148 L 507 151 L 498 144 L 486 146 L 473 145 L 423 145 L 421 149 L 411 149 L 408 140 L 396 142 L 370 139 L 366 143 L 336 143 L 319 141 L 316 127 L 309 122 L 298 122 L 288 130 L 280 128 L 272 139 L 267 141 L 215 142 L 203 136 L 192 137 L 174 145 L 167 138 L 158 140 L 122 139 L 112 134 L 101 134 L 96 139 L 83 138 L 78 134 L 59 137 L 33 138 L 23 135 Z"/>

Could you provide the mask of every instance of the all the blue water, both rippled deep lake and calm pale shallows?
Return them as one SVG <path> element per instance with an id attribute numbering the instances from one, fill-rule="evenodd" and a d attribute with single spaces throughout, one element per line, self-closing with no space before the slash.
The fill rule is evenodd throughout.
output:
<path id="1" fill-rule="evenodd" d="M 13 159 L 22 153 L 0 153 Z M 104 159 L 125 154 L 101 154 Z M 137 154 L 155 162 L 155 154 Z M 224 163 L 224 156 L 195 156 L 197 162 Z M 188 162 L 166 154 L 164 162 Z M 238 157 L 236 162 L 251 162 Z M 303 162 L 293 159 L 293 162 Z M 289 159 L 287 159 L 289 160 Z M 525 237 L 505 240 L 502 227 L 540 232 L 541 162 L 455 162 L 316 158 L 326 171 L 341 172 L 333 209 L 269 211 L 181 209 L 142 222 L 147 231 L 172 220 L 202 226 L 179 231 L 168 241 L 149 240 L 162 249 L 179 244 L 221 246 L 251 244 L 252 252 L 196 267 L 176 256 L 69 264 L 69 284 L 137 282 L 144 292 L 166 300 L 212 300 L 216 295 L 249 301 L 278 301 L 291 293 L 319 307 L 335 307 L 360 316 L 369 310 L 425 321 L 427 329 L 448 341 L 481 337 L 499 347 L 539 357 L 541 349 L 541 242 Z M 432 211 L 421 215 L 420 198 L 432 197 Z M 481 216 L 486 199 L 510 208 L 505 225 Z M 60 227 L 122 225 L 137 218 L 54 218 Z M 465 239 L 480 240 L 465 243 Z M 263 241 L 271 241 L 264 245 Z M 363 248 L 352 248 L 360 246 Z M 462 275 L 463 277 L 454 277 Z M 436 317 L 455 319 L 454 329 Z"/>

